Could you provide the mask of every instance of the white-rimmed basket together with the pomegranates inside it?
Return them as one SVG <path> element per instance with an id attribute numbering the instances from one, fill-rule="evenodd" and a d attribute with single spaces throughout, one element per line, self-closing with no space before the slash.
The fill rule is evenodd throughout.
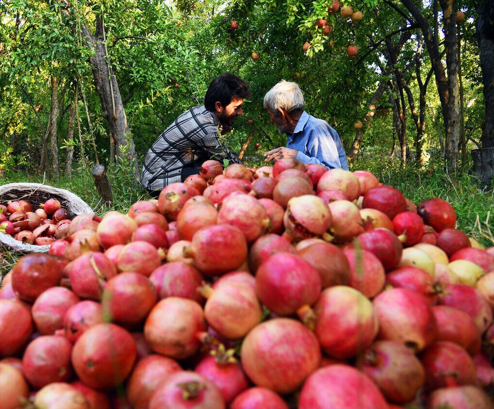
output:
<path id="1" fill-rule="evenodd" d="M 46 253 L 82 213 L 93 211 L 69 190 L 38 183 L 0 186 L 0 243 L 22 253 Z"/>

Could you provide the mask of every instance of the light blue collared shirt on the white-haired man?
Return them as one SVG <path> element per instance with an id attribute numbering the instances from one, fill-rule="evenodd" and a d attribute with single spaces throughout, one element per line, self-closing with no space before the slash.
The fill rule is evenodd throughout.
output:
<path id="1" fill-rule="evenodd" d="M 287 134 L 287 148 L 298 150 L 302 163 L 316 163 L 329 169 L 348 170 L 345 149 L 338 133 L 323 119 L 302 112 L 292 134 Z"/>

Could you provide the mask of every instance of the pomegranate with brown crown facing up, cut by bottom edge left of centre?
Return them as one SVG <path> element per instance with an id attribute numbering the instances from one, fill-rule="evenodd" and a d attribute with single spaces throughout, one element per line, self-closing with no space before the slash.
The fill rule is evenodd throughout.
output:
<path id="1" fill-rule="evenodd" d="M 218 388 L 196 372 L 180 371 L 168 376 L 149 401 L 149 409 L 225 409 Z"/>

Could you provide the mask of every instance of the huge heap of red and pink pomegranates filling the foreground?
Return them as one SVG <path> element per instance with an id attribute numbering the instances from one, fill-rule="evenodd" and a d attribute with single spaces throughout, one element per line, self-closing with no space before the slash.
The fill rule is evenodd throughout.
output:
<path id="1" fill-rule="evenodd" d="M 208 160 L 18 260 L 0 408 L 493 409 L 494 247 L 455 225 L 367 171 Z"/>

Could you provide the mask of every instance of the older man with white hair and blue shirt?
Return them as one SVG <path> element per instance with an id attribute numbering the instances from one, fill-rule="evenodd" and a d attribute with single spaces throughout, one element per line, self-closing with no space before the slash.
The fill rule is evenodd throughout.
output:
<path id="1" fill-rule="evenodd" d="M 329 169 L 348 170 L 345 149 L 338 133 L 323 119 L 304 111 L 304 96 L 295 82 L 282 80 L 264 96 L 271 122 L 287 134 L 286 147 L 264 154 L 265 161 L 294 157 L 302 163 L 322 164 Z"/>

